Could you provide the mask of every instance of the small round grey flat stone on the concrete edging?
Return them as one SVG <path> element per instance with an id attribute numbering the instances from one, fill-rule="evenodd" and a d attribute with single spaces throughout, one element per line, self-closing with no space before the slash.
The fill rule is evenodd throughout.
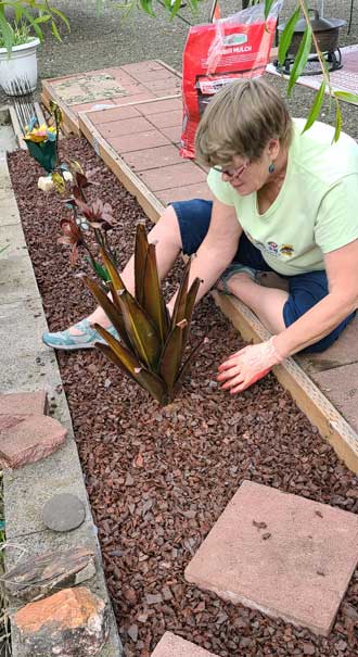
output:
<path id="1" fill-rule="evenodd" d="M 61 493 L 46 504 L 42 518 L 44 525 L 53 531 L 71 531 L 84 522 L 85 505 L 76 495 Z"/>

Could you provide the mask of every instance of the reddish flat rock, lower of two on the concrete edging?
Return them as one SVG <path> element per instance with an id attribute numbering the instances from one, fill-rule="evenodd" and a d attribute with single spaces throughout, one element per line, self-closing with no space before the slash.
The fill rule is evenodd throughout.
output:
<path id="1" fill-rule="evenodd" d="M 52 454 L 65 442 L 67 430 L 52 417 L 35 415 L 0 433 L 0 458 L 18 468 Z"/>

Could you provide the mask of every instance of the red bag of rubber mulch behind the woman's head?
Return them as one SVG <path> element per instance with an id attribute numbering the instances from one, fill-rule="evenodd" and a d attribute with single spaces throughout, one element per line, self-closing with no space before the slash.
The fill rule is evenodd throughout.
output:
<path id="1" fill-rule="evenodd" d="M 190 28 L 183 52 L 183 124 L 180 154 L 194 157 L 197 124 L 213 96 L 242 77 L 261 75 L 269 61 L 278 14 L 274 2 L 265 21 L 264 4 L 228 18 Z"/>

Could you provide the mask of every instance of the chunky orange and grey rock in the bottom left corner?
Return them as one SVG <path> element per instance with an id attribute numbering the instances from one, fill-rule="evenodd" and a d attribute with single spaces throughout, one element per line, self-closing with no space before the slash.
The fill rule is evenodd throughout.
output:
<path id="1" fill-rule="evenodd" d="M 29 603 L 12 617 L 22 657 L 98 655 L 108 635 L 108 608 L 85 586 Z"/>

